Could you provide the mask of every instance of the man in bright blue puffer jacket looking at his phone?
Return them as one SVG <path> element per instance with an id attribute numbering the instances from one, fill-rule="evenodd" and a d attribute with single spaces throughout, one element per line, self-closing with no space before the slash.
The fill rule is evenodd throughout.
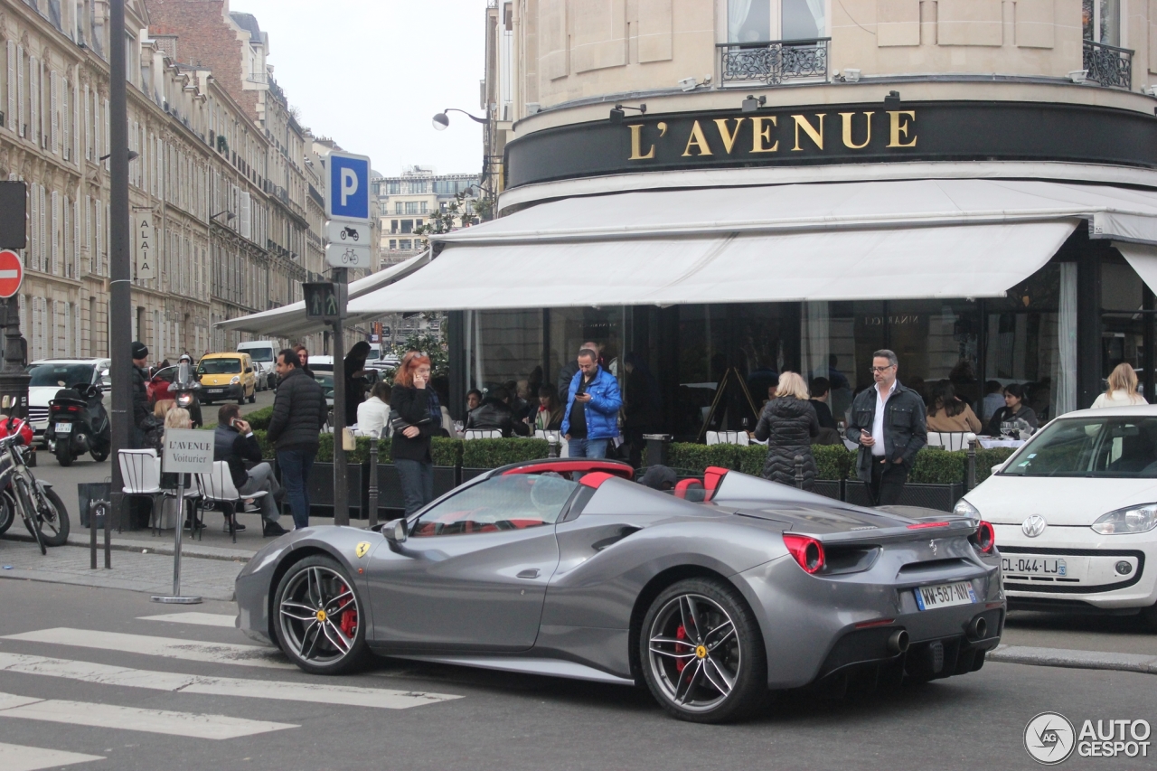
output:
<path id="1" fill-rule="evenodd" d="M 614 375 L 598 366 L 598 352 L 578 352 L 578 372 L 570 379 L 562 435 L 570 457 L 606 457 L 606 445 L 619 435 L 622 396 Z"/>

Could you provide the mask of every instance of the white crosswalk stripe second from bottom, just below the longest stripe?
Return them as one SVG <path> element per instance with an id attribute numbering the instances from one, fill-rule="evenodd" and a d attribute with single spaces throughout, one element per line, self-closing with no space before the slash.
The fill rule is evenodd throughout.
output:
<path id="1" fill-rule="evenodd" d="M 6 704 L 16 702 L 15 706 Z M 22 703 L 21 703 L 22 702 Z M 249 720 L 223 714 L 141 710 L 96 702 L 66 702 L 62 699 L 27 699 L 12 693 L 0 693 L 0 718 L 45 720 L 95 728 L 124 728 L 150 734 L 170 734 L 193 739 L 236 739 L 285 728 L 300 728 L 288 722 Z"/>

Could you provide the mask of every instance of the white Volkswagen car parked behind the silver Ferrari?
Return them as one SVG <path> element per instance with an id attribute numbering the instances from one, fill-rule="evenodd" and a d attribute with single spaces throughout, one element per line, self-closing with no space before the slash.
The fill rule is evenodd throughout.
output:
<path id="1" fill-rule="evenodd" d="M 1053 420 L 956 513 L 993 523 L 1009 609 L 1140 612 L 1157 631 L 1157 406 Z"/>

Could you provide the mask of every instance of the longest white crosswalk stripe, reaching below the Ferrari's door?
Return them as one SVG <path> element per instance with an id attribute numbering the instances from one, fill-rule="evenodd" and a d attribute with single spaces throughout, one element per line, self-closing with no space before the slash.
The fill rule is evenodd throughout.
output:
<path id="1" fill-rule="evenodd" d="M 462 698 L 460 696 L 449 693 L 395 691 L 384 688 L 330 685 L 327 683 L 292 683 L 283 681 L 244 680 L 241 677 L 204 677 L 200 675 L 148 671 L 145 669 L 91 663 L 89 661 L 50 659 L 47 656 L 19 653 L 0 653 L 0 671 L 66 677 L 88 683 L 146 688 L 154 691 L 241 696 L 285 702 L 311 702 L 315 704 L 341 704 L 383 710 L 405 710 L 423 704 L 435 704 L 437 702 Z M 2 708 L 2 705 L 0 705 L 0 708 Z"/>

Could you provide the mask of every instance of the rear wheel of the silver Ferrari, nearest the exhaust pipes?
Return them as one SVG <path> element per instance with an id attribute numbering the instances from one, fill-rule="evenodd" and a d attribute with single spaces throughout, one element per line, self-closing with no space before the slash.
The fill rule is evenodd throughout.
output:
<path id="1" fill-rule="evenodd" d="M 648 688 L 677 718 L 743 718 L 767 695 L 759 627 L 743 597 L 722 581 L 669 587 L 651 603 L 639 642 Z"/>

